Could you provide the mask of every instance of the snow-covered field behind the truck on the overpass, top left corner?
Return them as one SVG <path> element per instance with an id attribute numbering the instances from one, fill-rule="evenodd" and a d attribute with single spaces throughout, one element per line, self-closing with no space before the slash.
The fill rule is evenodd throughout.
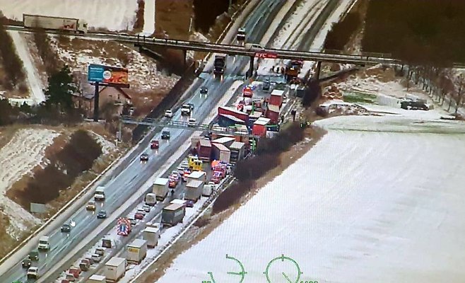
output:
<path id="1" fill-rule="evenodd" d="M 7 18 L 23 21 L 23 13 L 81 18 L 90 27 L 132 30 L 136 21 L 137 0 L 0 0 Z"/>

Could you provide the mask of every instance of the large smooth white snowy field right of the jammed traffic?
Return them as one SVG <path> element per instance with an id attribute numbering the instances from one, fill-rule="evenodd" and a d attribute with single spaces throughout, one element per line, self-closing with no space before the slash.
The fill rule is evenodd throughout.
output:
<path id="1" fill-rule="evenodd" d="M 374 117 L 351 118 L 370 129 Z M 281 254 L 304 280 L 462 282 L 465 134 L 346 130 L 348 117 L 317 124 L 328 134 L 159 282 L 201 282 L 207 272 L 237 282 L 226 254 L 242 261 L 247 282 L 265 282 L 262 272 Z M 283 262 L 271 267 L 273 282 L 288 282 L 282 272 L 295 281 Z"/>

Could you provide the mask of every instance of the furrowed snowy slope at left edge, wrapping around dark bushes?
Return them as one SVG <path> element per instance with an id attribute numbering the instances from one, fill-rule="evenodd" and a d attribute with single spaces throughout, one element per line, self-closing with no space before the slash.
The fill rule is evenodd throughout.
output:
<path id="1" fill-rule="evenodd" d="M 13 183 L 42 163 L 45 149 L 58 136 L 58 132 L 50 129 L 20 129 L 0 149 L 0 206 L 10 219 L 8 233 L 11 236 L 30 225 L 40 224 L 40 220 L 6 197 L 5 193 Z"/>

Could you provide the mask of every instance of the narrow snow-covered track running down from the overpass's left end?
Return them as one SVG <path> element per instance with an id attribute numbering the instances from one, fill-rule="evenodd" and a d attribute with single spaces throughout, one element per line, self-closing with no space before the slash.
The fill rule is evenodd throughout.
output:
<path id="1" fill-rule="evenodd" d="M 33 63 L 34 59 L 30 54 L 28 44 L 18 31 L 10 30 L 8 33 L 10 33 L 11 38 L 13 39 L 18 56 L 23 61 L 26 80 L 28 81 L 28 86 L 31 91 L 31 97 L 35 100 L 35 104 L 40 104 L 45 101 L 45 95 L 42 91 L 44 86 L 42 86 L 42 81 L 40 77 L 38 77 L 38 71 Z"/>

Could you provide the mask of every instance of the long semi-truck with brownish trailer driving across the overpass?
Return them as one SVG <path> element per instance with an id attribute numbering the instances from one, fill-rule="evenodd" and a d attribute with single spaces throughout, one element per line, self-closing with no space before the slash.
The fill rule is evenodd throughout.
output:
<path id="1" fill-rule="evenodd" d="M 23 13 L 25 28 L 43 28 L 45 30 L 64 30 L 73 33 L 87 33 L 87 22 L 78 18 L 29 15 Z"/>

